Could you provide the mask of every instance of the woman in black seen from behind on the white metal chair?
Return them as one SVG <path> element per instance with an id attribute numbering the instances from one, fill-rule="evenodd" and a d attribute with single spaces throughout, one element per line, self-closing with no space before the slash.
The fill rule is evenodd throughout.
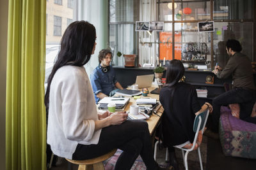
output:
<path id="1" fill-rule="evenodd" d="M 166 85 L 160 91 L 160 102 L 164 108 L 163 114 L 163 143 L 168 146 L 170 164 L 178 169 L 173 146 L 191 148 L 195 132 L 193 122 L 198 113 L 212 106 L 198 103 L 196 89 L 182 81 L 184 66 L 180 60 L 168 62 Z"/>

